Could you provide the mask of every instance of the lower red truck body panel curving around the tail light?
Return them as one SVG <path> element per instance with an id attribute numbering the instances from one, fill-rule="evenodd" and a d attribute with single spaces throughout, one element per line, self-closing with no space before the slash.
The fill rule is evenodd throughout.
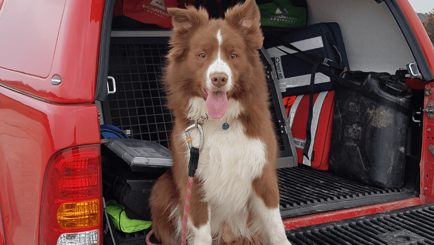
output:
<path id="1" fill-rule="evenodd" d="M 99 144 L 97 108 L 48 103 L 3 87 L 0 101 L 0 205 L 6 244 L 38 244 L 48 162 L 59 150 Z"/>

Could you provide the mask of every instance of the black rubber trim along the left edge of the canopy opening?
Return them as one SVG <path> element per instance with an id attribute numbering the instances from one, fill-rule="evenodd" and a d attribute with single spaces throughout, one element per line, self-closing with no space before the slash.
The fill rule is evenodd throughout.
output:
<path id="1" fill-rule="evenodd" d="M 99 41 L 98 73 L 96 75 L 95 99 L 105 101 L 108 95 L 107 75 L 110 52 L 110 36 L 112 31 L 113 10 L 115 0 L 107 0 L 102 17 L 101 39 Z"/>

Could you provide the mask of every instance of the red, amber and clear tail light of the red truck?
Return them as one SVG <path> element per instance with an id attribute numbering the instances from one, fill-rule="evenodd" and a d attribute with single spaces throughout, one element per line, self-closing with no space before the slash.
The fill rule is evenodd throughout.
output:
<path id="1" fill-rule="evenodd" d="M 102 227 L 100 146 L 55 154 L 44 179 L 40 245 L 97 245 Z"/>

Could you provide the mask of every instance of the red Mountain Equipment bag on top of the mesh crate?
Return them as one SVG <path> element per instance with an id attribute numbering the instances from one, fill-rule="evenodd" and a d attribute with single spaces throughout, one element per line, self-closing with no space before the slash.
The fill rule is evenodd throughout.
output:
<path id="1" fill-rule="evenodd" d="M 177 0 L 116 0 L 113 16 L 123 15 L 145 24 L 172 28 L 167 8 L 177 6 Z"/>

